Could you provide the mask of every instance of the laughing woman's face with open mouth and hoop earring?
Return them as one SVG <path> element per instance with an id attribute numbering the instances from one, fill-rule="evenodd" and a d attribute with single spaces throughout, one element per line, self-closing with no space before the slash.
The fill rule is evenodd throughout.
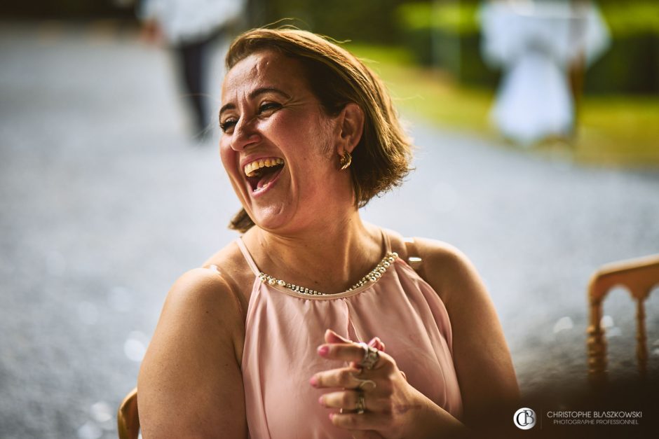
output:
<path id="1" fill-rule="evenodd" d="M 348 173 L 337 169 L 337 122 L 297 60 L 265 50 L 238 62 L 224 78 L 219 121 L 222 163 L 261 228 L 304 226 L 351 204 Z"/>

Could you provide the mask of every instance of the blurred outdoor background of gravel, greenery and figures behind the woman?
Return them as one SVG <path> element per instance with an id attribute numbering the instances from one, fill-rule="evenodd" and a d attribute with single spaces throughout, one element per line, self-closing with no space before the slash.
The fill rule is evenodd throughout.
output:
<path id="1" fill-rule="evenodd" d="M 365 218 L 470 256 L 524 396 L 587 388 L 590 275 L 659 253 L 656 1 L 219 1 L 192 25 L 176 3 L 0 6 L 1 438 L 116 437 L 168 288 L 237 236 L 222 55 L 274 22 L 362 57 L 419 146 Z M 646 312 L 656 377 L 659 288 Z M 634 382 L 627 291 L 604 314 Z"/>

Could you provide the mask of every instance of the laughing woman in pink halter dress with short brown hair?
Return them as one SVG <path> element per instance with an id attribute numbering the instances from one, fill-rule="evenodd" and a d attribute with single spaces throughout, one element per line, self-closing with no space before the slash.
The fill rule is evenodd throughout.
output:
<path id="1" fill-rule="evenodd" d="M 140 370 L 144 438 L 445 438 L 514 403 L 466 257 L 360 218 L 411 158 L 379 78 L 291 29 L 239 36 L 226 66 L 243 235 L 172 286 Z"/>

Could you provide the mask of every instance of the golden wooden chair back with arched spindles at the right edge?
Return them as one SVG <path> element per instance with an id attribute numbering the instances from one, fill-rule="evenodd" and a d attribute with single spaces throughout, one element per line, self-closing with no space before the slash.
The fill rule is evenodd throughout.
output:
<path id="1" fill-rule="evenodd" d="M 636 301 L 637 348 L 639 374 L 647 374 L 648 349 L 645 330 L 645 300 L 653 286 L 659 286 L 659 254 L 644 258 L 623 260 L 601 267 L 590 278 L 588 300 L 590 325 L 588 326 L 588 375 L 594 384 L 606 382 L 606 340 L 602 321 L 602 302 L 614 286 L 623 286 Z"/>

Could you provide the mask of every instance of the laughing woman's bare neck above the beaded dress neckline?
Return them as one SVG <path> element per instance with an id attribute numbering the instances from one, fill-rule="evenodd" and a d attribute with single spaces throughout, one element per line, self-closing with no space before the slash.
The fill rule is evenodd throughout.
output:
<path id="1" fill-rule="evenodd" d="M 379 229 L 363 223 L 356 209 L 288 235 L 254 227 L 245 242 L 266 274 L 324 293 L 345 291 L 383 256 Z"/>

